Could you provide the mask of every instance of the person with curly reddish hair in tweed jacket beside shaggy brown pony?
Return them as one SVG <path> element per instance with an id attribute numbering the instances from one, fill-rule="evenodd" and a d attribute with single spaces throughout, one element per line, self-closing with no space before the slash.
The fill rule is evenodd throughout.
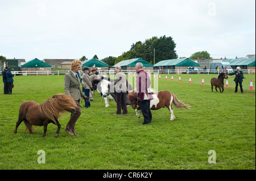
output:
<path id="1" fill-rule="evenodd" d="M 65 95 L 72 96 L 72 98 L 75 100 L 77 104 L 76 113 L 71 114 L 71 117 L 65 128 L 65 132 L 67 132 L 70 135 L 76 135 L 76 136 L 78 134 L 75 133 L 75 125 L 76 125 L 77 119 L 79 119 L 81 115 L 80 100 L 81 100 L 81 97 L 84 98 L 84 100 L 87 99 L 87 97 L 84 95 L 84 92 L 82 92 L 81 90 L 80 78 L 76 74 L 76 72 L 80 70 L 81 66 L 82 66 L 82 63 L 80 60 L 76 59 L 72 61 L 71 70 L 69 70 L 64 77 Z"/>

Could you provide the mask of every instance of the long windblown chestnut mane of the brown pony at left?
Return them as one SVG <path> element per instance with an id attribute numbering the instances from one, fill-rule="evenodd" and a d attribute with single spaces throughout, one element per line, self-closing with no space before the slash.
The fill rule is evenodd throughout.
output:
<path id="1" fill-rule="evenodd" d="M 48 100 L 39 104 L 39 110 L 43 112 L 49 119 L 55 122 L 60 117 L 60 112 L 75 110 L 77 107 L 75 100 L 65 94 L 55 94 Z"/>

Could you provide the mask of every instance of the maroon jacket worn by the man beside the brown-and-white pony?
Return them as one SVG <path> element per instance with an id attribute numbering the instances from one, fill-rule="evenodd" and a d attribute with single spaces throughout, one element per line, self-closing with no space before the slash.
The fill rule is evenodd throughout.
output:
<path id="1" fill-rule="evenodd" d="M 150 77 L 144 70 L 139 70 L 137 75 L 137 95 L 143 101 L 144 95 L 147 95 L 148 100 L 154 99 L 152 94 L 147 91 L 151 85 Z"/>

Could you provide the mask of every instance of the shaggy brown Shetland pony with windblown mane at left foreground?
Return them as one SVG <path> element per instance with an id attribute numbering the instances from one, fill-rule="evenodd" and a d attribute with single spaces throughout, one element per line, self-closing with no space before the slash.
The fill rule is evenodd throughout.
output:
<path id="1" fill-rule="evenodd" d="M 59 136 L 60 123 L 57 120 L 60 117 L 60 112 L 76 113 L 77 104 L 74 99 L 69 95 L 55 94 L 52 98 L 49 98 L 45 102 L 39 104 L 34 101 L 23 102 L 19 107 L 19 119 L 16 122 L 16 128 L 13 131 L 17 132 L 17 129 L 24 121 L 26 129 L 32 132 L 32 125 L 44 126 L 43 137 L 46 136 L 47 125 L 53 123 L 57 125 L 57 132 L 55 136 Z"/>

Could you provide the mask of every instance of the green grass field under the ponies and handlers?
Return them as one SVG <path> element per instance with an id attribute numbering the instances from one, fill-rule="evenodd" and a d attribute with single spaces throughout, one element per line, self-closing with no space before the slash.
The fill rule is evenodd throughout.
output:
<path id="1" fill-rule="evenodd" d="M 204 76 L 205 85 L 201 85 Z M 46 137 L 43 127 L 23 132 L 24 123 L 13 133 L 23 100 L 42 103 L 54 94 L 64 93 L 64 75 L 16 76 L 13 95 L 3 95 L 0 104 L 0 169 L 255 169 L 255 90 L 249 90 L 250 79 L 243 81 L 244 93 L 234 94 L 234 76 L 224 92 L 212 92 L 214 74 L 165 74 L 159 80 L 159 91 L 169 90 L 191 105 L 191 110 L 174 108 L 170 121 L 167 108 L 152 111 L 152 122 L 141 125 L 135 111 L 114 116 L 115 102 L 98 92 L 90 108 L 82 108 L 76 133 L 65 131 L 70 113 L 59 119 L 61 130 L 55 138 L 56 125 L 49 124 Z M 82 104 L 81 104 L 82 106 Z M 46 153 L 46 163 L 38 163 L 38 151 Z M 216 164 L 210 164 L 209 150 L 216 151 Z"/>

